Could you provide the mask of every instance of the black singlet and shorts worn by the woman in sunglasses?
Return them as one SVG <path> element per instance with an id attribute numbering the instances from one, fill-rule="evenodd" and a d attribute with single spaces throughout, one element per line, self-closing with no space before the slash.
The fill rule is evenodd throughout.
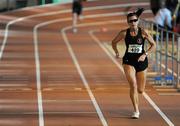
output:
<path id="1" fill-rule="evenodd" d="M 145 52 L 145 38 L 142 36 L 142 29 L 138 28 L 138 34 L 131 36 L 130 29 L 127 29 L 125 36 L 126 52 L 123 56 L 123 64 L 134 66 L 136 72 L 143 71 L 148 67 L 148 59 L 138 62 L 138 58 Z"/>

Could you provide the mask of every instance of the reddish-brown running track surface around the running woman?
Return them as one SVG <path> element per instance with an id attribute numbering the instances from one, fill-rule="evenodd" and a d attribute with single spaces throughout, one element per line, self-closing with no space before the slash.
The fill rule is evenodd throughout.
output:
<path id="1" fill-rule="evenodd" d="M 142 2 L 146 2 L 143 7 L 148 9 L 148 1 L 133 1 Z M 91 8 L 125 3 L 132 1 L 88 2 L 84 6 Z M 123 72 L 101 47 L 101 44 L 110 42 L 120 29 L 127 26 L 126 11 L 137 7 L 139 5 L 132 8 L 128 5 L 85 9 L 85 19 L 80 22 L 77 34 L 73 34 L 70 28 L 71 5 L 68 4 L 29 8 L 1 15 L 4 24 L 1 25 L 3 32 L 0 39 L 1 47 L 5 42 L 5 48 L 1 49 L 0 59 L 0 126 L 101 126 L 103 123 L 93 103 L 99 105 L 108 126 L 168 125 L 143 96 L 140 96 L 140 119 L 130 119 L 133 109 L 128 83 Z M 69 11 L 57 12 L 66 10 Z M 44 15 L 51 12 L 55 13 Z M 117 12 L 124 14 L 102 15 Z M 145 13 L 143 17 L 149 18 L 152 14 Z M 22 19 L 6 27 L 9 21 L 17 18 Z M 42 24 L 48 21 L 52 22 Z M 107 32 L 101 31 L 103 27 L 107 28 Z M 99 41 L 95 41 L 95 38 Z M 66 42 L 69 42 L 69 47 Z M 36 46 L 38 50 L 35 50 Z M 120 64 L 121 59 L 118 62 Z M 37 81 L 38 77 L 40 81 Z M 40 89 L 37 88 L 38 84 Z M 43 112 L 39 112 L 38 105 L 41 106 L 41 102 L 38 99 L 41 98 L 37 96 L 41 95 L 37 92 L 42 93 Z M 95 102 L 90 98 L 90 93 Z M 174 125 L 180 125 L 179 95 L 160 96 L 148 84 L 146 93 Z M 43 119 L 39 119 L 40 113 Z M 44 125 L 39 122 L 44 122 Z"/>

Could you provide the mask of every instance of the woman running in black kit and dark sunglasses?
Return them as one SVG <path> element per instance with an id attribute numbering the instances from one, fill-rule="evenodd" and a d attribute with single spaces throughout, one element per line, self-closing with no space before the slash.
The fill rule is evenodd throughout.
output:
<path id="1" fill-rule="evenodd" d="M 142 28 L 138 27 L 139 16 L 144 11 L 143 8 L 127 15 L 129 28 L 122 30 L 112 41 L 112 48 L 119 57 L 117 43 L 122 39 L 125 40 L 126 51 L 123 56 L 123 68 L 130 86 L 130 98 L 134 107 L 132 118 L 138 119 L 139 101 L 138 93 L 142 94 L 145 89 L 146 71 L 148 67 L 148 55 L 155 50 L 156 43 L 153 38 Z M 149 42 L 150 47 L 145 51 L 145 39 Z"/>

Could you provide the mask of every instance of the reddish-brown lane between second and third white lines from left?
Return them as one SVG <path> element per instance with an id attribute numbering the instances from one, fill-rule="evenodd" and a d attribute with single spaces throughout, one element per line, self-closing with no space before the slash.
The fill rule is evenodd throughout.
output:
<path id="1" fill-rule="evenodd" d="M 57 115 L 49 116 L 45 114 L 46 125 L 86 125 L 87 122 L 85 120 L 94 120 L 94 125 L 100 125 L 87 92 L 81 91 L 81 88 L 83 88 L 82 81 L 71 60 L 65 43 L 63 43 L 63 40 L 59 40 L 59 34 L 54 34 L 52 38 L 44 38 L 44 32 L 39 30 L 38 33 L 42 64 L 41 75 L 42 78 L 46 79 L 46 81 L 42 79 L 42 86 L 44 85 L 44 87 L 47 87 L 46 90 L 50 90 L 49 92 L 43 92 L 43 99 L 58 100 L 61 98 L 67 101 L 60 104 L 43 104 L 45 113 L 47 111 L 57 111 L 59 116 L 62 117 L 59 118 Z M 47 42 L 45 42 L 44 39 L 46 39 Z M 57 41 L 57 39 L 59 41 Z M 48 45 L 51 44 L 52 47 L 49 49 Z M 51 64 L 49 64 L 49 62 L 51 62 Z M 75 102 L 77 100 L 80 102 Z M 88 102 L 84 102 L 87 100 Z M 86 116 L 89 114 L 91 116 Z M 75 116 L 76 119 L 73 119 Z M 52 117 L 59 121 L 52 122 Z"/>

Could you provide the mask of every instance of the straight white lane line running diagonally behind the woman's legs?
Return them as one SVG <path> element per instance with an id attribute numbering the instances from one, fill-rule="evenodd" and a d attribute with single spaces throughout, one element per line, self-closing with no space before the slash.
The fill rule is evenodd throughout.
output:
<path id="1" fill-rule="evenodd" d="M 87 24 L 88 26 L 88 24 Z M 105 51 L 105 53 L 109 56 L 109 58 L 117 65 L 117 67 L 123 72 L 122 65 L 109 53 L 109 51 L 101 44 L 101 41 L 93 34 L 94 31 L 90 32 L 90 36 L 94 39 L 95 42 Z M 165 122 L 169 126 L 174 126 L 174 124 L 170 121 L 170 119 L 160 110 L 160 108 L 155 104 L 155 102 L 148 96 L 147 93 L 143 93 L 144 98 L 149 102 L 149 104 L 160 114 L 160 116 L 165 120 Z"/>

